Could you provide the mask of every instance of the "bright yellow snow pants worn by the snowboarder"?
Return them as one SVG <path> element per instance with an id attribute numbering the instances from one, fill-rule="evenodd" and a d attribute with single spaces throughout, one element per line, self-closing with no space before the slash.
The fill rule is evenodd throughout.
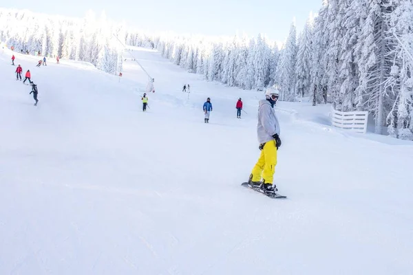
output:
<path id="1" fill-rule="evenodd" d="M 277 165 L 277 147 L 275 147 L 275 140 L 266 142 L 261 151 L 260 158 L 253 168 L 253 181 L 261 181 L 267 184 L 273 184 L 275 165 Z"/>

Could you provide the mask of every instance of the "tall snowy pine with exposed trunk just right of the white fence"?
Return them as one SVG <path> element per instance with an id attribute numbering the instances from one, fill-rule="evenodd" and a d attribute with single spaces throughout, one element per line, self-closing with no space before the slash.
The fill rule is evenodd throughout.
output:
<path id="1" fill-rule="evenodd" d="M 385 117 L 395 98 L 390 95 L 394 87 L 392 66 L 396 57 L 396 42 L 389 35 L 388 17 L 394 10 L 392 0 L 368 0 L 367 18 L 361 29 L 361 59 L 359 60 L 361 95 L 359 108 L 371 111 L 375 119 L 375 132 L 382 133 Z"/>

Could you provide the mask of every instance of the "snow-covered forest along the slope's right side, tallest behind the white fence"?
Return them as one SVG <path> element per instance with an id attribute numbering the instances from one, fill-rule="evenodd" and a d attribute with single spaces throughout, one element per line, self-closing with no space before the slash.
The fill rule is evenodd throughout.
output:
<path id="1" fill-rule="evenodd" d="M 278 85 L 281 100 L 307 97 L 340 111 L 370 111 L 376 133 L 413 140 L 413 5 L 405 0 L 324 0 L 284 45 L 259 34 L 208 39 L 128 34 L 188 72 L 242 89 Z M 281 46 L 281 48 L 279 48 Z"/>

